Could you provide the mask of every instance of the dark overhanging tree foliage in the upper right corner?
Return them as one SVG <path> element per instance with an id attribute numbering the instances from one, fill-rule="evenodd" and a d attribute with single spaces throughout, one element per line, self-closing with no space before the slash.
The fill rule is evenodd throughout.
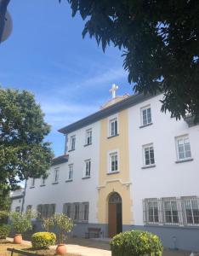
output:
<path id="1" fill-rule="evenodd" d="M 63 1 L 63 0 L 62 0 Z M 68 0 L 72 15 L 87 20 L 103 50 L 123 49 L 123 66 L 135 92 L 162 90 L 162 111 L 199 119 L 198 0 Z"/>

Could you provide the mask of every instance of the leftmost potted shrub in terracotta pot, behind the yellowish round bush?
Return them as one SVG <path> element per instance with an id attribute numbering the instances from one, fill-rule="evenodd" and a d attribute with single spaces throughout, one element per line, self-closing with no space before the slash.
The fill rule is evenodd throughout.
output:
<path id="1" fill-rule="evenodd" d="M 22 234 L 26 230 L 32 229 L 31 219 L 35 218 L 36 214 L 31 212 L 10 212 L 9 219 L 11 228 L 15 231 L 14 243 L 20 244 L 22 242 Z"/>

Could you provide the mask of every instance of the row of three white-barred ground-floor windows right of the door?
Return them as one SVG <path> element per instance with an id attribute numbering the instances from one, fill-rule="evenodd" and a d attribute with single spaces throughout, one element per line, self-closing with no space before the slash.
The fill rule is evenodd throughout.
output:
<path id="1" fill-rule="evenodd" d="M 199 225 L 199 198 L 148 198 L 143 201 L 145 224 Z"/>

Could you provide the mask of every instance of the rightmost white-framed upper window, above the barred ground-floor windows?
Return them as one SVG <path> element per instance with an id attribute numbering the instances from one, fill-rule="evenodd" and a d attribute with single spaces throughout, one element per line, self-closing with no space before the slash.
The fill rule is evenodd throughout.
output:
<path id="1" fill-rule="evenodd" d="M 178 160 L 187 160 L 191 158 L 189 137 L 176 137 L 176 148 Z"/>

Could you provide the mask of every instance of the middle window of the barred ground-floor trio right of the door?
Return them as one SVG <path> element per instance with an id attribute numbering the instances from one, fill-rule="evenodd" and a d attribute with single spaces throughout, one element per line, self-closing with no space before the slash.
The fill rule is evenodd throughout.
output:
<path id="1" fill-rule="evenodd" d="M 179 212 L 176 199 L 164 198 L 162 199 L 162 206 L 164 212 L 164 223 L 179 224 Z"/>

